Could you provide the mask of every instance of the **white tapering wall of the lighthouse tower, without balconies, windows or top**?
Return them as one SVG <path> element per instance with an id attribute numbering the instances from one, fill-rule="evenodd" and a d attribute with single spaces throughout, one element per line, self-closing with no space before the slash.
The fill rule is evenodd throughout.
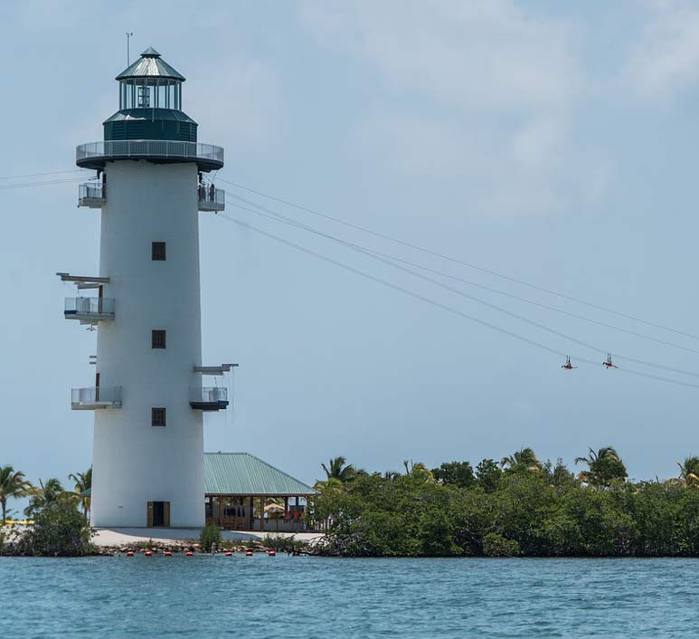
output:
<path id="1" fill-rule="evenodd" d="M 197 167 L 146 160 L 108 162 L 99 275 L 116 300 L 113 322 L 99 326 L 99 386 L 122 386 L 120 409 L 95 411 L 91 522 L 146 526 L 147 502 L 170 502 L 170 525 L 201 527 L 202 413 L 189 405 L 201 386 Z M 166 260 L 151 243 L 166 243 Z M 166 348 L 151 331 L 166 330 Z M 166 425 L 151 425 L 151 408 Z"/>

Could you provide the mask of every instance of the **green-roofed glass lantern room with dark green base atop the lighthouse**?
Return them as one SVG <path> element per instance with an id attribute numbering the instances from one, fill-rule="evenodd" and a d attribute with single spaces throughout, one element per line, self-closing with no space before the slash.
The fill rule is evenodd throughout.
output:
<path id="1" fill-rule="evenodd" d="M 104 122 L 105 141 L 196 142 L 197 123 L 182 110 L 184 76 L 148 47 L 117 76 L 119 110 Z"/>

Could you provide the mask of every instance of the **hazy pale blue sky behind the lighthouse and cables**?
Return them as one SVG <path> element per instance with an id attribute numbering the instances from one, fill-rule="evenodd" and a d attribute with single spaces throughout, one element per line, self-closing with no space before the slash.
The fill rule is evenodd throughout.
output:
<path id="1" fill-rule="evenodd" d="M 70 389 L 92 383 L 95 334 L 62 319 L 72 289 L 54 273 L 96 274 L 99 211 L 76 207 L 79 173 L 7 177 L 71 171 L 102 138 L 127 31 L 132 60 L 153 45 L 184 74 L 199 141 L 225 148 L 226 215 L 402 289 L 200 214 L 203 360 L 240 363 L 207 451 L 306 482 L 336 455 L 383 472 L 523 446 L 571 465 L 613 445 L 653 479 L 699 453 L 699 388 L 628 371 L 699 378 L 601 366 L 610 351 L 699 373 L 699 2 L 25 0 L 0 5 L 0 464 L 34 482 L 90 466 Z M 587 320 L 423 272 L 440 288 L 234 196 Z M 560 353 L 595 365 L 562 370 Z"/>

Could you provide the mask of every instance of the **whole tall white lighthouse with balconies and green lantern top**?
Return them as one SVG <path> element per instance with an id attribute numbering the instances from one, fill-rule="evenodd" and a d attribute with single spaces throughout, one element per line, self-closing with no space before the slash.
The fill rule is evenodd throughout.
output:
<path id="1" fill-rule="evenodd" d="M 223 149 L 197 141 L 184 77 L 155 49 L 117 80 L 104 141 L 77 148 L 78 166 L 97 170 L 79 205 L 101 210 L 99 276 L 59 273 L 78 287 L 66 318 L 98 329 L 94 386 L 71 396 L 95 411 L 91 522 L 200 527 L 202 414 L 228 405 L 203 379 L 231 365 L 202 365 L 197 215 L 223 209 L 205 183 Z"/>

